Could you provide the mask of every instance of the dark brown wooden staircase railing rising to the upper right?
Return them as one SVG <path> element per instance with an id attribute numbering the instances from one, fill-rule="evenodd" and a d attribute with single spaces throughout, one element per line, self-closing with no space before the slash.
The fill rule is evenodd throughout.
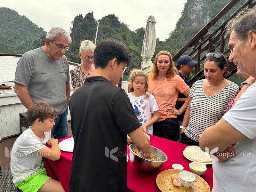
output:
<path id="1" fill-rule="evenodd" d="M 224 7 L 207 25 L 204 26 L 186 45 L 184 45 L 179 52 L 173 56 L 173 60 L 177 60 L 184 53 L 197 60 L 198 64 L 195 67 L 195 75 L 188 81 L 188 85 L 192 86 L 197 80 L 204 78 L 204 71 L 201 70 L 203 61 L 205 59 L 206 52 L 221 52 L 227 58 L 229 56 L 228 40 L 229 35 L 225 36 L 225 30 L 228 21 L 236 16 L 237 13 L 245 11 L 249 8 L 253 8 L 256 5 L 256 0 L 246 1 L 239 9 L 236 10 L 227 20 L 225 20 L 218 28 L 212 33 L 207 34 L 208 30 L 222 18 L 239 0 L 232 0 L 226 7 Z M 226 45 L 226 47 L 225 47 Z M 191 51 L 189 51 L 192 48 Z M 229 74 L 228 78 L 236 72 L 236 66 L 233 62 L 229 63 Z"/>

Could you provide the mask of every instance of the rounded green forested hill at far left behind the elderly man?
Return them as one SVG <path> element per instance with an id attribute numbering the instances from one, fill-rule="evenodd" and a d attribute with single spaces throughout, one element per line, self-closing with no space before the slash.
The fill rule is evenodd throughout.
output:
<path id="1" fill-rule="evenodd" d="M 44 29 L 26 16 L 10 8 L 0 7 L 0 53 L 23 54 L 34 49 L 34 43 L 45 35 Z"/>

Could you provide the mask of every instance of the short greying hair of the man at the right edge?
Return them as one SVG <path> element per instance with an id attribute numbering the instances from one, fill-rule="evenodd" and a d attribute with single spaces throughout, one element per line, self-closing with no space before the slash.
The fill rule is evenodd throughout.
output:
<path id="1" fill-rule="evenodd" d="M 249 9 L 246 12 L 240 12 L 236 17 L 228 22 L 227 34 L 234 30 L 236 37 L 244 43 L 247 39 L 247 33 L 250 30 L 256 32 L 256 9 Z"/>

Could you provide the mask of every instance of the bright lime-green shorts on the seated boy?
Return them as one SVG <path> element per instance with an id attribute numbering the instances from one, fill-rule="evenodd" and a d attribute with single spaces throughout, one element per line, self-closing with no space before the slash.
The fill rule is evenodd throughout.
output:
<path id="1" fill-rule="evenodd" d="M 36 174 L 28 176 L 20 183 L 14 183 L 14 185 L 23 192 L 37 192 L 50 178 L 45 168 L 43 168 Z"/>

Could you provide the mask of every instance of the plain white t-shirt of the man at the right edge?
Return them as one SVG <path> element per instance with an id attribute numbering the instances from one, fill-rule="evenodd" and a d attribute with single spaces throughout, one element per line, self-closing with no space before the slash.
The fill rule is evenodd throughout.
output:
<path id="1" fill-rule="evenodd" d="M 222 118 L 244 134 L 236 156 L 213 161 L 213 192 L 255 191 L 256 176 L 256 83 L 252 84 Z M 223 127 L 225 129 L 225 127 Z"/>

